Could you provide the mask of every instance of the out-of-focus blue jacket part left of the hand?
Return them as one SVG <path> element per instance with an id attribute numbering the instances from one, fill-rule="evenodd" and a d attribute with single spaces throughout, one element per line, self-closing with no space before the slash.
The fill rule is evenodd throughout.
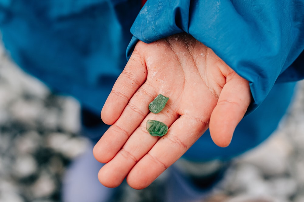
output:
<path id="1" fill-rule="evenodd" d="M 100 114 L 139 10 L 137 0 L 0 0 L 0 29 L 21 68 Z"/>

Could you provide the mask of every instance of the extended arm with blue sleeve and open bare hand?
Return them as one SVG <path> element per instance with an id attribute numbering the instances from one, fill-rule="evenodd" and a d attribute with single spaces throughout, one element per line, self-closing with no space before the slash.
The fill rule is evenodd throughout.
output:
<path id="1" fill-rule="evenodd" d="M 288 81 L 286 69 L 304 48 L 303 1 L 154 2 L 147 1 L 133 24 L 132 56 L 102 110 L 113 125 L 94 154 L 107 163 L 99 179 L 109 187 L 126 176 L 133 188 L 148 186 L 208 126 L 214 142 L 227 146 L 277 78 Z M 197 41 L 169 37 L 180 32 Z M 157 94 L 170 99 L 155 117 L 147 105 Z M 145 130 L 147 119 L 156 118 L 170 127 L 159 140 Z"/>

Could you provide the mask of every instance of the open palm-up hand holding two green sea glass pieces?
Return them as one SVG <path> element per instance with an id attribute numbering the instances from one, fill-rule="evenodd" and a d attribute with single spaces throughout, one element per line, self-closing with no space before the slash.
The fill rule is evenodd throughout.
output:
<path id="1" fill-rule="evenodd" d="M 169 100 L 153 114 L 148 105 L 158 94 Z M 107 163 L 99 171 L 100 182 L 116 187 L 127 177 L 131 187 L 147 187 L 208 127 L 217 145 L 228 146 L 250 101 L 248 81 L 191 36 L 139 41 L 101 112 L 112 126 L 93 151 Z M 151 136 L 148 119 L 167 124 L 168 133 Z"/>

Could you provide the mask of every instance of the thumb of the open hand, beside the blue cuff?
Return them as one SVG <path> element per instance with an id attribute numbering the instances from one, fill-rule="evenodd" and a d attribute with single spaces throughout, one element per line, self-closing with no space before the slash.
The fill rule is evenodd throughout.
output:
<path id="1" fill-rule="evenodd" d="M 224 85 L 212 111 L 209 130 L 212 140 L 227 147 L 237 124 L 244 117 L 251 101 L 249 82 L 236 73 Z"/>

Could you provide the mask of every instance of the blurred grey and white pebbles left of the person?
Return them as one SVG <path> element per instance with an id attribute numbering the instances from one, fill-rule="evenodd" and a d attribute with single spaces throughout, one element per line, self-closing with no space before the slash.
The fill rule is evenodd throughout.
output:
<path id="1" fill-rule="evenodd" d="M 60 201 L 61 177 L 88 145 L 79 103 L 52 94 L 0 48 L 0 202 Z"/>

